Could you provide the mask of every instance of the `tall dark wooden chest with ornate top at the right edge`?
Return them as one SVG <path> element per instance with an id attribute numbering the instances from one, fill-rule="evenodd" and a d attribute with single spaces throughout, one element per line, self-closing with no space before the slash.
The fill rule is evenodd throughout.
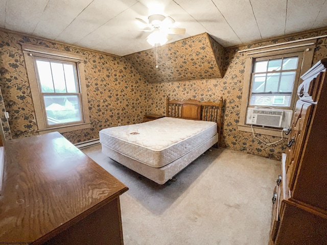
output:
<path id="1" fill-rule="evenodd" d="M 273 197 L 270 243 L 327 244 L 327 59 L 307 71 Z"/>

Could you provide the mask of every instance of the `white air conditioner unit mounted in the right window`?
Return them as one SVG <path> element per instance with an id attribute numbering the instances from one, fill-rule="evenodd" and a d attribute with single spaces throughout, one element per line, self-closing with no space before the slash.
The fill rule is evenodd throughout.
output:
<path id="1" fill-rule="evenodd" d="M 250 124 L 281 128 L 283 116 L 282 110 L 253 109 Z"/>

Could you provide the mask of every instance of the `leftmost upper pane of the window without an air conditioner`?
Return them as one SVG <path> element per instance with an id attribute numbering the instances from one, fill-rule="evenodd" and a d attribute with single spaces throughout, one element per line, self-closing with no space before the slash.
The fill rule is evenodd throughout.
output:
<path id="1" fill-rule="evenodd" d="M 50 62 L 36 60 L 36 67 L 40 79 L 42 92 L 54 92 Z"/>

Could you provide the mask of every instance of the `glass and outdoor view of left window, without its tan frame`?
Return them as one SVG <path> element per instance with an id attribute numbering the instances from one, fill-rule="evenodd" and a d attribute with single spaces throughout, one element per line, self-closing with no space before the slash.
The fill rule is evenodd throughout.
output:
<path id="1" fill-rule="evenodd" d="M 36 58 L 39 89 L 46 124 L 57 126 L 83 120 L 75 62 Z"/>

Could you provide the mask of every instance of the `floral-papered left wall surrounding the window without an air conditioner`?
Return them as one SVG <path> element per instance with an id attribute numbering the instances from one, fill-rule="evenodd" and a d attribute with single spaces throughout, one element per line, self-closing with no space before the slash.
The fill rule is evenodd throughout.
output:
<path id="1" fill-rule="evenodd" d="M 0 30 L 0 86 L 13 138 L 38 134 L 20 43 L 84 56 L 91 128 L 63 133 L 69 141 L 96 139 L 101 129 L 142 122 L 146 81 L 124 58 Z"/>

